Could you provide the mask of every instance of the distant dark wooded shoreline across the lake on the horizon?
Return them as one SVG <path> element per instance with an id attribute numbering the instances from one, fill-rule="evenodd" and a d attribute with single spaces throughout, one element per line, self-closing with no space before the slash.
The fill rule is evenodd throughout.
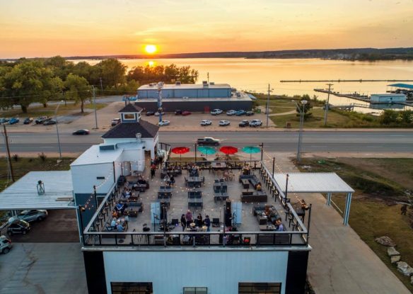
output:
<path id="1" fill-rule="evenodd" d="M 28 59 L 35 59 L 33 57 Z M 116 58 L 130 59 L 178 59 L 178 58 L 245 58 L 245 59 L 328 59 L 349 61 L 413 60 L 413 47 L 400 48 L 349 48 L 349 49 L 310 49 L 310 50 L 275 50 L 254 52 L 196 52 L 163 55 L 90 55 L 69 56 L 66 60 L 105 60 Z M 16 61 L 18 58 L 4 58 L 4 61 Z"/>

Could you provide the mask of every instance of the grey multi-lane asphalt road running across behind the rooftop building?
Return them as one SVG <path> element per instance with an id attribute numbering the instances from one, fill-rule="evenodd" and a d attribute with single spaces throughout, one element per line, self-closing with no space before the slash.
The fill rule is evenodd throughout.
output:
<path id="1" fill-rule="evenodd" d="M 102 133 L 88 136 L 60 134 L 62 152 L 83 152 L 93 144 L 103 142 Z M 291 152 L 297 149 L 298 132 L 160 132 L 160 142 L 172 146 L 194 144 L 198 137 L 223 139 L 223 145 L 242 147 L 264 142 L 267 152 Z M 11 154 L 18 152 L 57 152 L 55 133 L 10 133 Z M 5 150 L 4 140 L 0 148 Z M 413 132 L 381 131 L 306 131 L 303 133 L 303 152 L 413 152 Z"/>

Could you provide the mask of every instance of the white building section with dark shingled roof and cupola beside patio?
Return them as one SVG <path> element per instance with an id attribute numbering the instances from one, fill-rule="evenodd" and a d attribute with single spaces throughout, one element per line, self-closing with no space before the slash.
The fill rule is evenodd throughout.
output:
<path id="1" fill-rule="evenodd" d="M 127 104 L 119 111 L 121 122 L 102 136 L 104 142 L 93 145 L 71 164 L 77 206 L 88 203 L 92 193 L 96 193 L 97 198 L 106 196 L 120 176 L 144 171 L 146 152 L 155 158 L 159 127 L 141 120 L 141 111 L 142 108 Z M 83 226 L 95 209 L 83 213 Z"/>

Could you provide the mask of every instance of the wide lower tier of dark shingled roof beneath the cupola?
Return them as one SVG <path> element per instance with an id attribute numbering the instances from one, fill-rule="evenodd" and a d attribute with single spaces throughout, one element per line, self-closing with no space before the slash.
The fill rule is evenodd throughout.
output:
<path id="1" fill-rule="evenodd" d="M 158 134 L 158 130 L 158 125 L 140 120 L 139 123 L 120 123 L 102 137 L 104 139 L 134 138 L 136 133 L 140 132 L 142 138 L 153 138 Z"/>

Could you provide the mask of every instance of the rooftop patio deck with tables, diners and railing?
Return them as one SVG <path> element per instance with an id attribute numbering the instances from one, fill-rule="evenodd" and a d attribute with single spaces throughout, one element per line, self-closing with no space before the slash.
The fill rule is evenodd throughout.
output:
<path id="1" fill-rule="evenodd" d="M 169 162 L 169 166 L 174 164 Z M 269 181 L 261 162 L 198 162 L 198 178 L 191 177 L 190 171 L 184 168 L 186 164 L 182 162 L 181 171 L 175 168 L 168 172 L 175 174 L 175 183 L 169 189 L 161 188 L 168 186 L 161 169 L 156 169 L 153 179 L 150 169 L 142 174 L 149 188 L 138 185 L 136 176 L 127 176 L 127 183 L 114 187 L 86 227 L 85 245 L 307 245 L 307 230 L 303 225 L 305 211 L 297 215 L 295 203 L 281 201 L 279 193 L 282 191 L 277 191 Z M 245 175 L 242 168 L 249 165 L 250 175 Z M 134 186 L 141 191 L 134 191 Z M 124 197 L 126 187 L 132 188 L 129 198 Z M 199 198 L 190 199 L 193 194 Z M 227 197 L 233 207 L 231 220 L 225 217 L 226 205 L 229 205 Z M 118 203 L 126 204 L 122 213 L 117 211 Z M 267 210 L 271 210 L 271 216 L 267 212 L 268 217 L 263 214 L 266 205 Z M 182 232 L 180 218 L 188 209 L 193 219 L 201 214 L 204 220 L 209 215 L 210 232 L 196 220 Z M 113 216 L 122 222 L 127 220 L 123 232 L 111 230 Z M 283 232 L 277 231 L 274 225 L 277 216 L 281 217 Z"/>

